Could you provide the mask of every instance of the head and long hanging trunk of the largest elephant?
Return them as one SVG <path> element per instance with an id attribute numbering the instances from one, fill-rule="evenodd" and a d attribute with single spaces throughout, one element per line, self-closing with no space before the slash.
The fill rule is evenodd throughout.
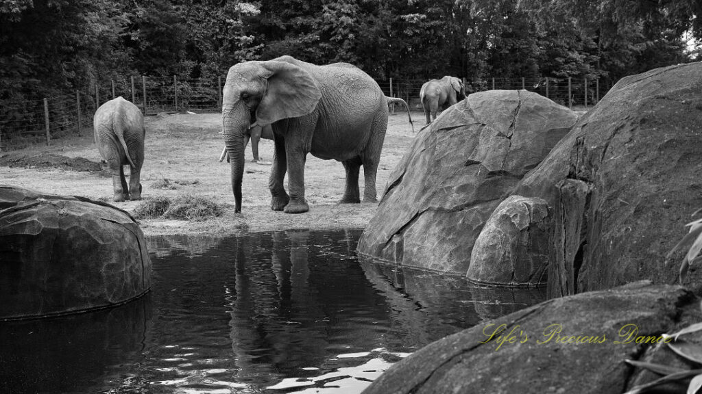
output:
<path id="1" fill-rule="evenodd" d="M 241 212 L 246 130 L 253 124 L 265 126 L 310 114 L 321 97 L 312 76 L 289 62 L 242 62 L 229 69 L 222 96 L 222 121 L 232 165 L 234 212 Z"/>

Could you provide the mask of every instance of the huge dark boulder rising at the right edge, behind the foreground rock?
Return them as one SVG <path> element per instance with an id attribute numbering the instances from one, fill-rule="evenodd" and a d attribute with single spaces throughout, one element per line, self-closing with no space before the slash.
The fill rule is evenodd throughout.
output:
<path id="1" fill-rule="evenodd" d="M 552 207 L 551 296 L 675 280 L 663 259 L 702 206 L 701 75 L 621 79 L 517 186 Z"/>

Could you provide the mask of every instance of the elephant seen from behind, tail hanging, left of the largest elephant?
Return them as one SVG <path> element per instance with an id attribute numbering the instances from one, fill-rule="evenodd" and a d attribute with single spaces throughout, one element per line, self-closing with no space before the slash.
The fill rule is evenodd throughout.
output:
<path id="1" fill-rule="evenodd" d="M 95 111 L 95 144 L 112 175 L 114 201 L 140 200 L 141 166 L 144 163 L 144 116 L 122 97 L 102 104 Z M 123 165 L 129 165 L 129 187 Z"/>

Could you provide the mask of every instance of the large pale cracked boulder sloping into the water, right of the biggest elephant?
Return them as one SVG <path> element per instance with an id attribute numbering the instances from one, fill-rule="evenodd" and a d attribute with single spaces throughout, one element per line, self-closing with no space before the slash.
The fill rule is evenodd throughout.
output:
<path id="1" fill-rule="evenodd" d="M 493 210 L 576 118 L 526 90 L 475 93 L 453 105 L 418 133 L 390 175 L 359 254 L 465 274 Z"/>

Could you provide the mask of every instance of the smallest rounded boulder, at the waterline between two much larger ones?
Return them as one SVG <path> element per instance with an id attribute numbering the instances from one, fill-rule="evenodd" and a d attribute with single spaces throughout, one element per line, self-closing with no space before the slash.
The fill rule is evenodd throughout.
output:
<path id="1" fill-rule="evenodd" d="M 548 204 L 541 198 L 505 198 L 475 240 L 468 280 L 502 286 L 546 283 L 547 217 Z"/>

